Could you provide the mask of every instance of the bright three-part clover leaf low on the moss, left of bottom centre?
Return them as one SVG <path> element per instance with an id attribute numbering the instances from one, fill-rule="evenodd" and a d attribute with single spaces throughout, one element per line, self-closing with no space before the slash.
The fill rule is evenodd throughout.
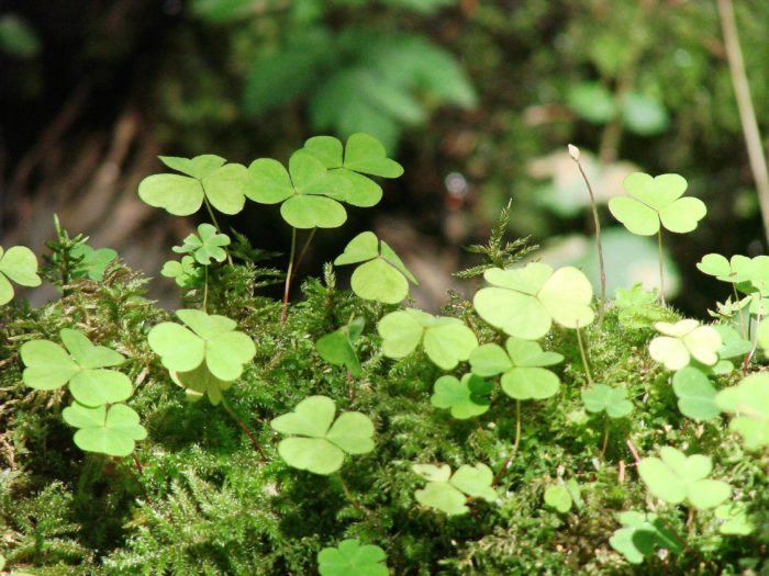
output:
<path id="1" fill-rule="evenodd" d="M 327 475 L 342 467 L 345 454 L 366 454 L 374 450 L 374 423 L 360 413 L 342 413 L 326 396 L 310 396 L 292 413 L 278 416 L 272 429 L 292 434 L 281 440 L 278 453 L 294 468 Z"/>

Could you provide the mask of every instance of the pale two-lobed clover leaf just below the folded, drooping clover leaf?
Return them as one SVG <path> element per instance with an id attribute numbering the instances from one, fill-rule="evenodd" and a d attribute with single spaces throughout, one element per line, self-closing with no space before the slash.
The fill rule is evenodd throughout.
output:
<path id="1" fill-rule="evenodd" d="M 444 370 L 467 360 L 478 347 L 476 335 L 461 320 L 413 308 L 384 316 L 379 320 L 379 335 L 386 357 L 403 358 L 422 345 L 427 357 Z"/>

